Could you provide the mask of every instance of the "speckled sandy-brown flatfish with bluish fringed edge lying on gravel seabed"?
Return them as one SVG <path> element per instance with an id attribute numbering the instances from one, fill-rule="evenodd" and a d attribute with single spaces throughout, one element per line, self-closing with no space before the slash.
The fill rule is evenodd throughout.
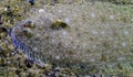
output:
<path id="1" fill-rule="evenodd" d="M 69 7 L 73 6 L 44 7 L 43 12 L 19 22 L 11 31 L 13 44 L 38 64 L 76 66 L 81 73 L 89 73 L 90 64 L 100 64 L 101 69 L 131 69 L 132 24 L 112 9 Z"/>

